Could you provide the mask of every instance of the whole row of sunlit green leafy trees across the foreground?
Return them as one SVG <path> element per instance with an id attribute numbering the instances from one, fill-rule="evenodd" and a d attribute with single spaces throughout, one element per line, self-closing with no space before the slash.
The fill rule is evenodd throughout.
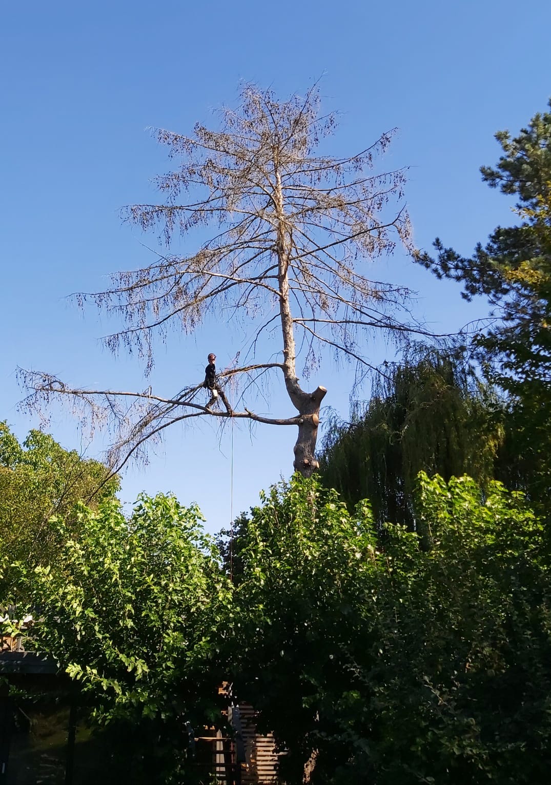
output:
<path id="1" fill-rule="evenodd" d="M 260 711 L 312 785 L 543 785 L 551 765 L 551 572 L 519 493 L 413 488 L 415 529 L 377 527 L 294 476 L 241 516 L 233 583 L 195 506 L 113 500 L 60 517 L 52 566 L 11 567 L 34 645 L 88 696 L 152 783 L 193 781 L 188 741 L 216 688 Z M 229 554 L 226 555 L 226 559 Z M 8 562 L 5 562 L 6 564 Z M 35 615 L 37 615 L 35 613 Z M 122 750 L 118 751 L 121 755 Z"/>

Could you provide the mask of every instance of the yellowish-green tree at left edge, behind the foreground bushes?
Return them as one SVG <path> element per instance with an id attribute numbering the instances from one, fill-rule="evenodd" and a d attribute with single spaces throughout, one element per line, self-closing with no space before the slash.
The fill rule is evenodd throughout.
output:
<path id="1" fill-rule="evenodd" d="M 103 464 L 63 450 L 52 436 L 32 430 L 21 445 L 0 422 L 0 549 L 5 557 L 27 565 L 53 563 L 58 543 L 49 517 L 67 517 L 76 534 L 75 502 L 84 499 L 94 507 L 118 491 L 117 477 L 102 485 L 106 476 Z"/>

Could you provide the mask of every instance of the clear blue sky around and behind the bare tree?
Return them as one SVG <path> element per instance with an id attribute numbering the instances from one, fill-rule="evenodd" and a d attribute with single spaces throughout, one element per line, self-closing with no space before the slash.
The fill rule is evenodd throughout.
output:
<path id="1" fill-rule="evenodd" d="M 114 359 L 98 338 L 113 323 L 80 312 L 67 295 L 101 290 L 109 272 L 150 261 L 121 225 L 119 210 L 153 201 L 150 178 L 169 168 L 147 133 L 187 133 L 213 123 L 212 109 L 234 104 L 243 81 L 281 97 L 303 93 L 321 75 L 324 108 L 342 113 L 332 150 L 357 152 L 382 131 L 399 133 L 382 169 L 409 166 L 406 190 L 416 243 L 439 235 L 469 253 L 498 223 L 513 221 L 508 200 L 480 182 L 478 167 L 498 158 L 496 130 L 513 132 L 551 95 L 549 0 L 463 2 L 53 2 L 5 4 L 0 67 L 0 260 L 2 359 L 0 418 L 18 436 L 36 425 L 16 412 L 16 366 L 59 374 L 74 385 L 143 389 L 137 361 Z M 401 254 L 377 275 L 419 293 L 416 313 L 437 331 L 483 316 L 459 287 L 438 282 Z M 205 355 L 219 365 L 239 334 L 209 324 L 195 338 L 160 349 L 151 382 L 161 394 L 201 379 Z M 384 342 L 375 360 L 392 355 Z M 352 376 L 324 363 L 312 382 L 346 416 Z M 274 390 L 274 414 L 291 414 Z M 51 432 L 80 447 L 67 414 Z M 234 513 L 288 476 L 294 429 L 234 431 Z M 98 449 L 91 447 L 92 455 Z M 174 491 L 197 501 L 208 527 L 230 520 L 230 434 L 211 425 L 175 430 L 149 466 L 133 467 L 121 498 Z"/>

